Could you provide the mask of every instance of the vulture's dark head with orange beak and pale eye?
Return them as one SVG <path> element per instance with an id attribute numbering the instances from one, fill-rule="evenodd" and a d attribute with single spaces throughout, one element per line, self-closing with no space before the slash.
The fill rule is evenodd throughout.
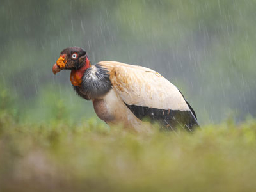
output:
<path id="1" fill-rule="evenodd" d="M 68 47 L 61 51 L 60 58 L 58 58 L 52 67 L 52 72 L 56 74 L 63 69 L 79 70 L 86 63 L 90 67 L 90 61 L 84 49 L 80 47 Z"/>

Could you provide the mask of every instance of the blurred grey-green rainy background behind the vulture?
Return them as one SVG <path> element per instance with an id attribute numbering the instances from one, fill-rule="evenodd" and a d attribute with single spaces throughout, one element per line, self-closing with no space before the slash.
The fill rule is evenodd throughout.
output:
<path id="1" fill-rule="evenodd" d="M 92 63 L 152 68 L 175 84 L 200 124 L 256 114 L 255 1 L 2 1 L 1 86 L 22 120 L 45 121 L 63 103 L 72 120 L 95 116 L 70 72 L 54 76 L 61 50 Z"/>

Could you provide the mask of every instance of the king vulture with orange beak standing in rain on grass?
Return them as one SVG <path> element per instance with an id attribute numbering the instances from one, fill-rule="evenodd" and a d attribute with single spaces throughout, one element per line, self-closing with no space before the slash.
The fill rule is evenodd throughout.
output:
<path id="1" fill-rule="evenodd" d="M 122 125 L 149 132 L 156 122 L 161 130 L 199 127 L 196 113 L 179 89 L 158 72 L 117 61 L 92 65 L 81 47 L 67 47 L 52 67 L 57 74 L 71 70 L 77 95 L 91 100 L 97 116 L 110 127 Z"/>

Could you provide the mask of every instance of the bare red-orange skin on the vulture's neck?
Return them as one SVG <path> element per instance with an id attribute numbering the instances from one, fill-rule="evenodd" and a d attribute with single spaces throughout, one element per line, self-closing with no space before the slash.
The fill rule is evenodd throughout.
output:
<path id="1" fill-rule="evenodd" d="M 87 56 L 84 63 L 85 64 L 83 67 L 79 68 L 78 70 L 71 70 L 70 81 L 74 86 L 80 86 L 84 72 L 87 68 L 91 67 L 91 62 Z"/>

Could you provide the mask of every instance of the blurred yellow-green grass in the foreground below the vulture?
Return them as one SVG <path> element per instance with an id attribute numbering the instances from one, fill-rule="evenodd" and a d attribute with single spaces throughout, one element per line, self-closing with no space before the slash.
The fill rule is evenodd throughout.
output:
<path id="1" fill-rule="evenodd" d="M 256 121 L 136 134 L 0 113 L 0 191 L 255 191 Z"/>

